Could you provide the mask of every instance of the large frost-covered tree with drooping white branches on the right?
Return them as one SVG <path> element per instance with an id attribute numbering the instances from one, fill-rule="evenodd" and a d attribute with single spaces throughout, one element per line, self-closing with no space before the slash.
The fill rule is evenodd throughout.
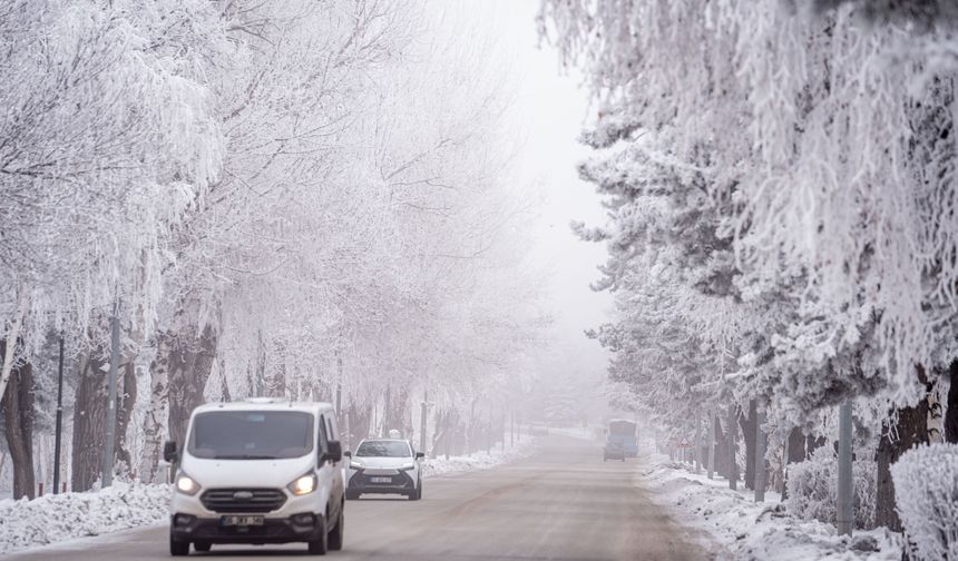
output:
<path id="1" fill-rule="evenodd" d="M 730 244 L 730 304 L 743 318 L 726 380 L 791 423 L 856 395 L 922 403 L 926 382 L 954 358 L 946 3 L 542 3 L 544 32 L 587 71 L 602 109 L 598 136 L 614 119 L 613 130 L 628 131 L 625 144 L 707 171 L 695 220 L 716 224 L 716 238 Z M 657 177 L 643 169 L 642 154 L 629 157 L 637 174 L 616 166 L 625 185 Z M 727 201 L 717 216 L 713 201 Z M 606 229 L 613 256 L 633 255 L 616 259 L 622 270 L 629 260 L 649 268 L 637 256 L 661 259 L 683 247 L 683 239 L 617 243 L 635 224 L 655 224 L 648 211 L 619 207 L 628 204 L 615 205 Z M 662 289 L 663 302 L 687 297 L 688 272 L 671 277 L 656 285 L 646 275 L 639 286 L 653 299 Z M 681 341 L 664 327 L 649 336 Z M 657 387 L 648 378 L 645 391 Z"/>

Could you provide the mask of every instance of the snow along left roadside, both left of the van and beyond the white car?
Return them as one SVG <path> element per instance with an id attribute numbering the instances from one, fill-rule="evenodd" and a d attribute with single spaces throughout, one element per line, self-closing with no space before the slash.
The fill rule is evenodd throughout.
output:
<path id="1" fill-rule="evenodd" d="M 428 459 L 426 476 L 488 470 L 535 450 L 535 439 L 522 436 L 505 451 L 470 456 Z M 45 495 L 33 501 L 0 500 L 0 554 L 76 538 L 101 535 L 166 522 L 169 486 L 117 482 L 104 491 Z"/>

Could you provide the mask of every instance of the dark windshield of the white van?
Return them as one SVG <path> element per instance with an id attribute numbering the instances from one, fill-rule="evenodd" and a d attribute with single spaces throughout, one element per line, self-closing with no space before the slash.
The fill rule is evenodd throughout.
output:
<path id="1" fill-rule="evenodd" d="M 299 411 L 213 411 L 193 420 L 187 450 L 215 460 L 300 457 L 313 450 L 313 415 Z"/>

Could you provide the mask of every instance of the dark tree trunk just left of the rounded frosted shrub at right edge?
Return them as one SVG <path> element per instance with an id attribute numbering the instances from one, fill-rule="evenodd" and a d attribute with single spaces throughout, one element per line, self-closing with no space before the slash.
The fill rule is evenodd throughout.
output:
<path id="1" fill-rule="evenodd" d="M 923 380 L 923 370 L 919 367 Z M 895 483 L 891 480 L 891 465 L 909 449 L 928 442 L 928 402 L 921 400 L 915 407 L 898 410 L 898 424 L 882 423 L 876 460 L 878 461 L 878 482 L 874 504 L 877 525 L 900 532 L 901 521 L 895 511 Z"/>

